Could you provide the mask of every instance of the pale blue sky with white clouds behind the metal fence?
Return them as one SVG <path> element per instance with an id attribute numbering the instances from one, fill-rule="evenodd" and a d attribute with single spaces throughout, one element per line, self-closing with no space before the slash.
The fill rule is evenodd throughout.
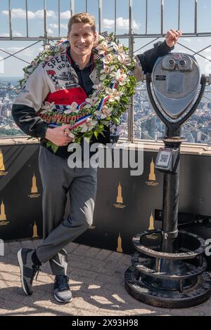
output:
<path id="1" fill-rule="evenodd" d="M 160 1 L 148 0 L 148 34 L 160 33 Z M 164 32 L 168 29 L 178 29 L 178 3 L 179 0 L 164 0 Z M 198 32 L 211 32 L 211 1 L 198 0 Z M 102 0 L 102 30 L 114 31 L 115 18 L 115 1 Z M 180 28 L 184 34 L 194 32 L 194 0 L 180 0 Z M 39 37 L 44 35 L 44 0 L 28 0 L 28 27 L 29 37 Z M 88 0 L 87 11 L 95 16 L 98 27 L 98 0 Z M 12 30 L 14 37 L 26 36 L 26 20 L 25 20 L 25 0 L 11 0 L 12 8 Z M 133 0 L 133 27 L 134 33 L 146 33 L 146 0 Z M 58 0 L 46 0 L 47 11 L 47 29 L 49 36 L 58 37 Z M 75 0 L 75 13 L 86 11 L 85 0 Z M 70 0 L 60 0 L 60 36 L 65 37 L 67 34 L 67 25 L 70 18 Z M 129 28 L 129 0 L 117 0 L 117 34 L 128 32 Z M 0 0 L 0 38 L 8 37 L 8 0 Z M 210 33 L 211 35 L 211 33 Z M 160 39 L 161 41 L 163 39 Z M 121 40 L 122 41 L 122 40 Z M 150 38 L 135 39 L 134 49 L 138 50 L 148 42 L 153 41 Z M 15 53 L 21 48 L 25 48 L 34 44 L 35 41 L 2 41 L 0 40 L 0 58 L 8 56 L 8 53 Z M 127 39 L 123 40 L 127 46 Z M 181 44 L 199 51 L 211 45 L 211 37 L 189 37 L 185 36 L 180 40 Z M 153 44 L 146 46 L 137 53 L 143 52 L 151 48 Z M 31 60 L 41 51 L 42 42 L 27 48 L 24 52 L 18 53 L 17 56 L 27 62 Z M 175 51 L 184 53 L 192 53 L 179 45 Z M 211 47 L 202 53 L 206 58 L 211 59 Z M 207 62 L 199 56 L 196 57 L 202 73 L 211 73 L 211 62 Z M 4 64 L 4 65 L 3 65 Z M 18 59 L 8 58 L 0 62 L 0 78 L 1 77 L 22 77 L 23 67 L 27 65 Z"/>

